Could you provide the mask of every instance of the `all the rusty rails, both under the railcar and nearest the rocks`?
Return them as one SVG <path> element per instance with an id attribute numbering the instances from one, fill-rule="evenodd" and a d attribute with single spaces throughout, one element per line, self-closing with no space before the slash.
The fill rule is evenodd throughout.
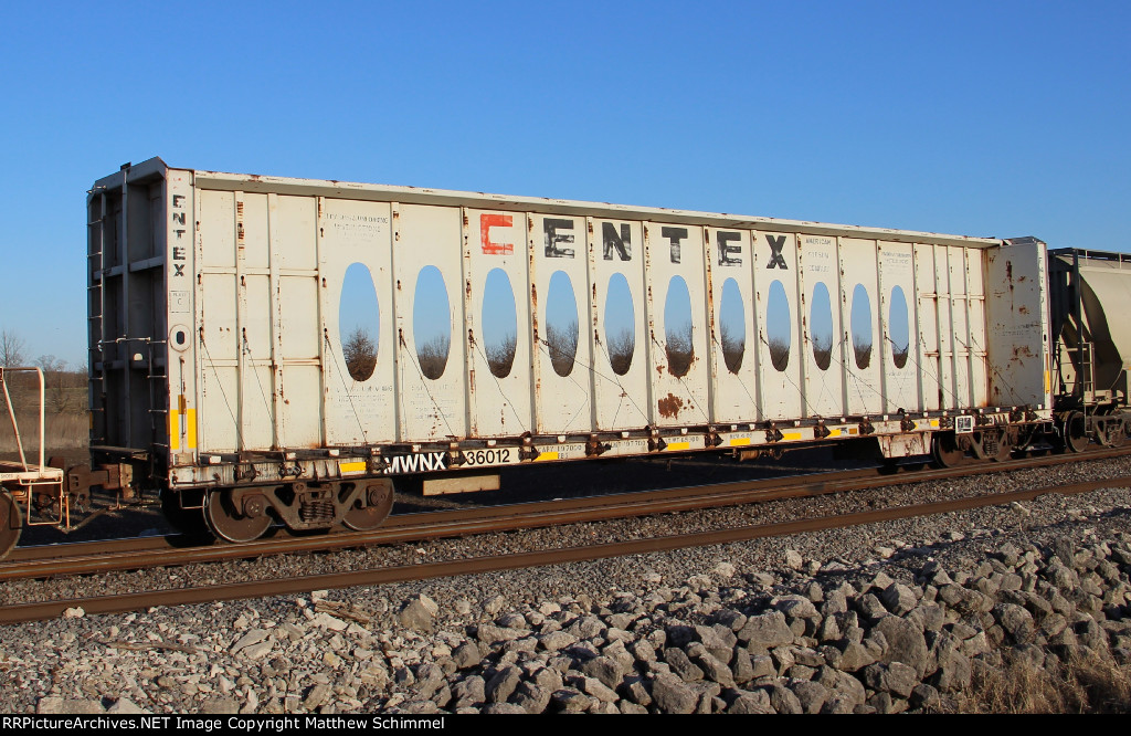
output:
<path id="1" fill-rule="evenodd" d="M 382 529 L 368 533 L 339 533 L 323 537 L 268 539 L 247 545 L 213 545 L 206 547 L 178 547 L 178 538 L 143 538 L 140 540 L 112 540 L 55 545 L 42 548 L 17 549 L 14 557 L 0 565 L 0 580 L 46 577 L 64 574 L 89 574 L 118 570 L 154 566 L 174 566 L 190 563 L 221 562 L 235 558 L 262 557 L 283 553 L 311 553 L 372 545 L 391 545 L 442 537 L 511 531 L 558 524 L 582 523 L 674 513 L 711 506 L 728 506 L 756 500 L 771 500 L 817 496 L 848 490 L 904 485 L 1005 472 L 1102 460 L 1131 453 L 1117 448 L 1076 456 L 1052 456 L 973 465 L 960 469 L 920 470 L 899 474 L 879 474 L 877 470 L 856 470 L 838 473 L 776 478 L 771 480 L 727 482 L 713 486 L 692 486 L 662 491 L 620 494 L 597 498 L 575 498 L 481 507 L 469 511 L 413 513 L 395 516 Z M 277 580 L 257 580 L 219 585 L 166 589 L 123 596 L 86 597 L 69 600 L 19 604 L 0 607 L 0 623 L 18 623 L 50 618 L 67 608 L 81 607 L 87 613 L 115 613 L 153 605 L 183 605 L 215 600 L 257 598 L 287 594 L 317 589 L 371 585 L 405 582 L 429 577 L 504 571 L 546 564 L 598 559 L 622 555 L 663 551 L 682 547 L 726 544 L 762 537 L 818 531 L 855 524 L 866 524 L 893 519 L 947 513 L 962 508 L 1007 504 L 1030 499 L 1050 493 L 1074 494 L 1131 486 L 1131 476 L 1088 481 L 1072 486 L 1055 486 L 930 504 L 898 506 L 860 512 L 849 515 L 822 516 L 776 524 L 756 524 L 724 530 L 687 534 L 651 537 L 648 539 L 595 544 L 567 549 L 519 553 L 506 556 L 476 557 L 443 563 L 359 570 Z M 144 553 L 144 558 L 138 555 Z"/>

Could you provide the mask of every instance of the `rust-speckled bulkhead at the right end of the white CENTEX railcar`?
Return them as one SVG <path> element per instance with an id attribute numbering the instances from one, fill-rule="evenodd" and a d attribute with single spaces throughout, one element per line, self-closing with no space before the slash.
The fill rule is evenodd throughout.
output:
<path id="1" fill-rule="evenodd" d="M 990 402 L 999 406 L 1052 405 L 1045 245 L 1005 242 L 986 254 L 986 313 L 991 340 Z"/>

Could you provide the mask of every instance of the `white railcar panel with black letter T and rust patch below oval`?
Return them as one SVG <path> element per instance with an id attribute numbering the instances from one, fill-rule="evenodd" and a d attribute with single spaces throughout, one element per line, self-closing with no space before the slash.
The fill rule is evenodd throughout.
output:
<path id="1" fill-rule="evenodd" d="M 661 427 L 708 425 L 710 370 L 703 229 L 646 222 L 644 233 L 653 416 Z M 679 298 L 682 293 L 676 285 L 679 279 L 691 298 L 687 315 L 691 326 L 691 365 L 682 376 L 670 365 L 667 336 L 670 330 L 680 332 L 683 325 L 666 324 L 670 297 Z M 682 316 L 676 311 L 673 320 Z"/>

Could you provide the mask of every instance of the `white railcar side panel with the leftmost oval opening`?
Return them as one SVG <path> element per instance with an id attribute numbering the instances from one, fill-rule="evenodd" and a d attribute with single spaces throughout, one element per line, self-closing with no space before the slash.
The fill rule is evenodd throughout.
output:
<path id="1" fill-rule="evenodd" d="M 319 211 L 322 333 L 326 384 L 326 443 L 363 445 L 396 442 L 396 334 L 392 328 L 392 228 L 389 205 L 380 202 L 323 199 Z M 377 365 L 372 375 L 355 380 L 346 366 L 342 334 L 372 315 L 342 314 L 346 272 L 360 264 L 372 280 L 377 299 Z M 343 327 L 345 330 L 343 330 Z"/>

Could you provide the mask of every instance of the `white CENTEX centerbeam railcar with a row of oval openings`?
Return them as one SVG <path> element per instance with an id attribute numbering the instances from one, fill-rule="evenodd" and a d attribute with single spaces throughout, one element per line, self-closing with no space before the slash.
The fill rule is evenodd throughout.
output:
<path id="1" fill-rule="evenodd" d="M 956 464 L 1128 428 L 1125 373 L 1088 373 L 1111 294 L 1033 238 L 159 159 L 87 215 L 92 464 L 66 494 L 157 494 L 230 541 L 371 529 L 395 490 L 512 465 L 831 443 Z"/>

